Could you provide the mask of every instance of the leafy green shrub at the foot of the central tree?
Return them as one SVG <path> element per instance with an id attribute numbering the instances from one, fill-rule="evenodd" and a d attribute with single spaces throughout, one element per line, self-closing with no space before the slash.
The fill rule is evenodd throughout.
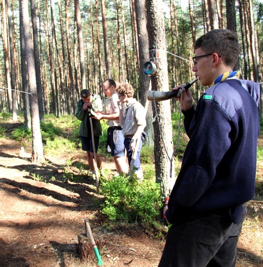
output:
<path id="1" fill-rule="evenodd" d="M 120 175 L 109 181 L 102 179 L 100 188 L 105 197 L 102 213 L 109 220 L 148 224 L 160 216 L 161 189 L 152 179 L 130 181 Z"/>

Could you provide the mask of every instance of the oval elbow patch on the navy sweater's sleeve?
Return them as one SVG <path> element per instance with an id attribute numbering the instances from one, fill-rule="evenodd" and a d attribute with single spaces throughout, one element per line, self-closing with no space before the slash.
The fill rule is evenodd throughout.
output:
<path id="1" fill-rule="evenodd" d="M 192 206 L 204 194 L 208 183 L 206 171 L 199 166 L 187 169 L 177 192 L 177 201 L 183 206 Z"/>

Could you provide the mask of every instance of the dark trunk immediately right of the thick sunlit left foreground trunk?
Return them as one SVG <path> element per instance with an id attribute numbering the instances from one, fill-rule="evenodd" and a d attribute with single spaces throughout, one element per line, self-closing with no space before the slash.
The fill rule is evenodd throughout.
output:
<path id="1" fill-rule="evenodd" d="M 36 68 L 36 87 L 37 87 L 39 119 L 40 119 L 40 122 L 43 122 L 44 121 L 44 108 L 43 108 L 43 95 L 42 95 L 42 86 L 41 86 L 41 70 L 40 70 L 38 39 L 37 39 L 35 0 L 30 0 L 30 3 L 31 3 L 32 28 L 33 28 L 33 42 L 34 42 L 34 56 L 35 56 L 35 68 Z"/>

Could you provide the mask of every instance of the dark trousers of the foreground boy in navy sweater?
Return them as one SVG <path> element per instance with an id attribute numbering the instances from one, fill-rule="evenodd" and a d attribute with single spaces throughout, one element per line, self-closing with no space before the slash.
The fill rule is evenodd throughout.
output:
<path id="1" fill-rule="evenodd" d="M 212 214 L 179 218 L 169 228 L 158 267 L 234 267 L 244 219 L 245 208 L 239 224 Z"/>

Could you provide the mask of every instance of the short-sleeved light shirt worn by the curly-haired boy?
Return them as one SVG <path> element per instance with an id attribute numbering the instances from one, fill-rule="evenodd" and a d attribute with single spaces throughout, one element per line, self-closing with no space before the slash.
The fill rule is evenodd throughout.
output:
<path id="1" fill-rule="evenodd" d="M 146 126 L 145 110 L 140 102 L 133 99 L 125 105 L 122 123 L 123 135 L 134 135 L 138 125 Z"/>

